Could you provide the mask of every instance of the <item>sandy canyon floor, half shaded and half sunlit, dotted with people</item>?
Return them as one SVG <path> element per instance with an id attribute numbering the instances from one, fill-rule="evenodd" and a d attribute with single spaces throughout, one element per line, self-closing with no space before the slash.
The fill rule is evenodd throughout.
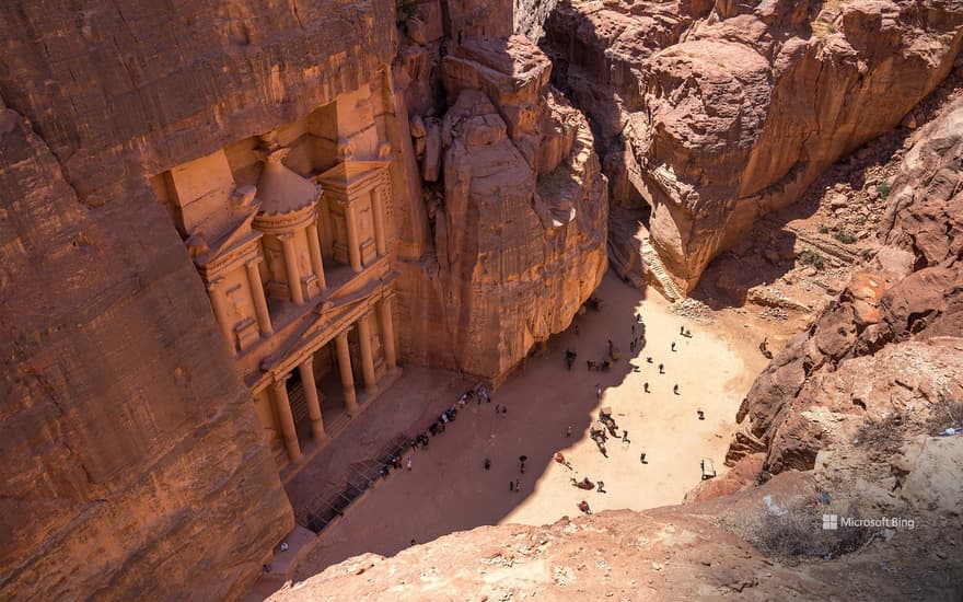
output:
<path id="1" fill-rule="evenodd" d="M 411 540 L 424 543 L 485 524 L 552 523 L 577 514 L 582 499 L 596 512 L 678 503 L 699 483 L 703 459 L 710 459 L 721 474 L 735 410 L 765 364 L 755 333 L 731 322 L 723 331 L 682 319 L 658 294 L 643 299 L 645 291 L 612 273 L 596 294 L 605 301 L 604 311 L 578 316 L 544 354 L 509 378 L 490 404 L 462 409 L 428 449 L 410 455 L 410 472 L 394 473 L 322 533 L 295 578 L 366 552 L 391 556 Z M 643 317 L 647 346 L 630 354 L 636 313 Z M 693 337 L 680 336 L 681 326 Z M 601 360 L 608 338 L 622 359 L 608 372 L 588 371 L 585 360 Z M 673 341 L 676 351 L 670 349 Z M 578 352 L 572 371 L 566 369 L 566 348 Z M 664 374 L 658 373 L 659 363 Z M 649 394 L 642 392 L 645 382 Z M 678 395 L 672 392 L 674 384 Z M 506 406 L 508 414 L 497 415 L 496 405 Z M 588 436 L 605 406 L 612 408 L 619 433 L 628 430 L 629 439 L 610 439 L 607 459 Z M 697 418 L 697 409 L 705 412 L 705 420 Z M 566 435 L 569 426 L 571 437 Z M 572 470 L 553 460 L 558 451 Z M 642 452 L 646 465 L 639 461 Z M 520 474 L 523 454 L 529 460 Z M 491 461 L 489 471 L 485 459 Z M 571 486 L 570 477 L 583 476 L 603 481 L 606 493 Z M 509 489 L 515 479 L 518 493 Z"/>

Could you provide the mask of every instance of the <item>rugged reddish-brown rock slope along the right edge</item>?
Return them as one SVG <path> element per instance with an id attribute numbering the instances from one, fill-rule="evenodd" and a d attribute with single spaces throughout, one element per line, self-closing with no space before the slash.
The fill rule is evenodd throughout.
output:
<path id="1" fill-rule="evenodd" d="M 756 380 L 730 461 L 764 447 L 769 472 L 812 468 L 865 420 L 926 430 L 963 397 L 963 101 L 914 140 L 884 246 Z"/>

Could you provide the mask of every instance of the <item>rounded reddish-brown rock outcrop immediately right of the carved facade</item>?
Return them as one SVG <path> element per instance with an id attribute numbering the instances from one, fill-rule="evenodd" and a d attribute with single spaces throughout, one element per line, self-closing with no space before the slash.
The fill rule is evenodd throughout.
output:
<path id="1" fill-rule="evenodd" d="M 425 180 L 440 181 L 436 254 L 401 285 L 403 346 L 498 380 L 599 286 L 605 180 L 585 118 L 548 85 L 550 63 L 526 38 L 469 37 L 441 67 L 450 108 L 413 128 Z"/>

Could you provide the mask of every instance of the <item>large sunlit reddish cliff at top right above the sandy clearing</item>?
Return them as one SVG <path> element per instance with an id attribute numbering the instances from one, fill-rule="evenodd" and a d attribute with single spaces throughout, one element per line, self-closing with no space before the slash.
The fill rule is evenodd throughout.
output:
<path id="1" fill-rule="evenodd" d="M 691 290 L 761 215 L 932 91 L 961 24 L 959 2 L 576 0 L 545 30 L 614 202 L 651 206 L 652 245 Z"/>

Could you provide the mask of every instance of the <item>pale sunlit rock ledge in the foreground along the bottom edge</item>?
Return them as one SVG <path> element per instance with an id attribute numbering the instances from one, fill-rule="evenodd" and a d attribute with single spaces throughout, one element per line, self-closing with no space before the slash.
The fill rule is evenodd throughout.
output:
<path id="1" fill-rule="evenodd" d="M 920 454 L 918 463 L 933 453 Z M 919 524 L 833 562 L 780 558 L 740 536 L 754 539 L 753 530 L 804 512 L 815 495 L 809 476 L 786 474 L 765 487 L 691 506 L 607 511 L 545 526 L 481 526 L 392 558 L 345 560 L 270 600 L 955 599 L 963 560 L 939 539 L 940 529 L 959 532 L 952 521 L 949 529 Z M 822 531 L 821 517 L 812 518 L 800 522 L 805 531 L 798 536 L 837 536 Z"/>

